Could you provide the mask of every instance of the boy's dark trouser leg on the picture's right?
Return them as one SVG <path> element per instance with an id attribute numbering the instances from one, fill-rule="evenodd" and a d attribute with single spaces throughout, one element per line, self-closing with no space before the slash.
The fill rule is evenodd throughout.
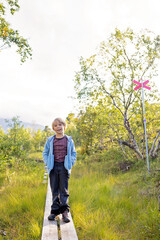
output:
<path id="1" fill-rule="evenodd" d="M 63 213 L 65 210 L 69 211 L 69 174 L 64 167 L 64 163 L 61 164 L 59 171 L 59 193 L 60 193 L 60 213 Z"/>

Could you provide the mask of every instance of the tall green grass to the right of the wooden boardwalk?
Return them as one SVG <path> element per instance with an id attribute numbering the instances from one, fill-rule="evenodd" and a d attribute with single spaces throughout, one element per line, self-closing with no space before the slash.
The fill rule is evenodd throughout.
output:
<path id="1" fill-rule="evenodd" d="M 160 173 L 148 175 L 143 162 L 123 173 L 114 156 L 107 162 L 104 156 L 90 157 L 87 164 L 86 160 L 77 163 L 70 179 L 70 205 L 79 239 L 160 239 Z M 153 162 L 151 167 L 160 164 Z"/>

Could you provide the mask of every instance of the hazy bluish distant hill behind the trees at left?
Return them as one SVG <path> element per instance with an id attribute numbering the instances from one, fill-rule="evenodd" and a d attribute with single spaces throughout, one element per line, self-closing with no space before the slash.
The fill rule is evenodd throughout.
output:
<path id="1" fill-rule="evenodd" d="M 11 121 L 11 119 L 7 119 L 9 121 Z M 37 131 L 38 129 L 44 130 L 44 126 L 40 125 L 40 124 L 34 124 L 34 123 L 28 123 L 28 122 L 21 122 L 21 125 L 24 126 L 24 128 L 31 128 L 34 129 L 35 131 Z M 7 132 L 8 124 L 5 121 L 5 118 L 0 118 L 0 126 L 3 128 L 4 132 Z"/>

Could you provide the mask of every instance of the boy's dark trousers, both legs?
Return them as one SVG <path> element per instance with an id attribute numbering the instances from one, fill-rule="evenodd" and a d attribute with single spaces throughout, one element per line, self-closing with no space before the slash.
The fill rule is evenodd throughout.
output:
<path id="1" fill-rule="evenodd" d="M 69 211 L 69 174 L 64 167 L 64 163 L 55 162 L 49 177 L 52 191 L 51 213 L 58 215 L 66 210 Z"/>

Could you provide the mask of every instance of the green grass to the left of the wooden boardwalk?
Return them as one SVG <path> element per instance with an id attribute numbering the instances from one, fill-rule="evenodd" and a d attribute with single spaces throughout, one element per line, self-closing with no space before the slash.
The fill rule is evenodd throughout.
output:
<path id="1" fill-rule="evenodd" d="M 46 184 L 44 165 L 34 160 L 14 163 L 3 173 L 0 185 L 0 231 L 6 240 L 40 239 Z"/>

